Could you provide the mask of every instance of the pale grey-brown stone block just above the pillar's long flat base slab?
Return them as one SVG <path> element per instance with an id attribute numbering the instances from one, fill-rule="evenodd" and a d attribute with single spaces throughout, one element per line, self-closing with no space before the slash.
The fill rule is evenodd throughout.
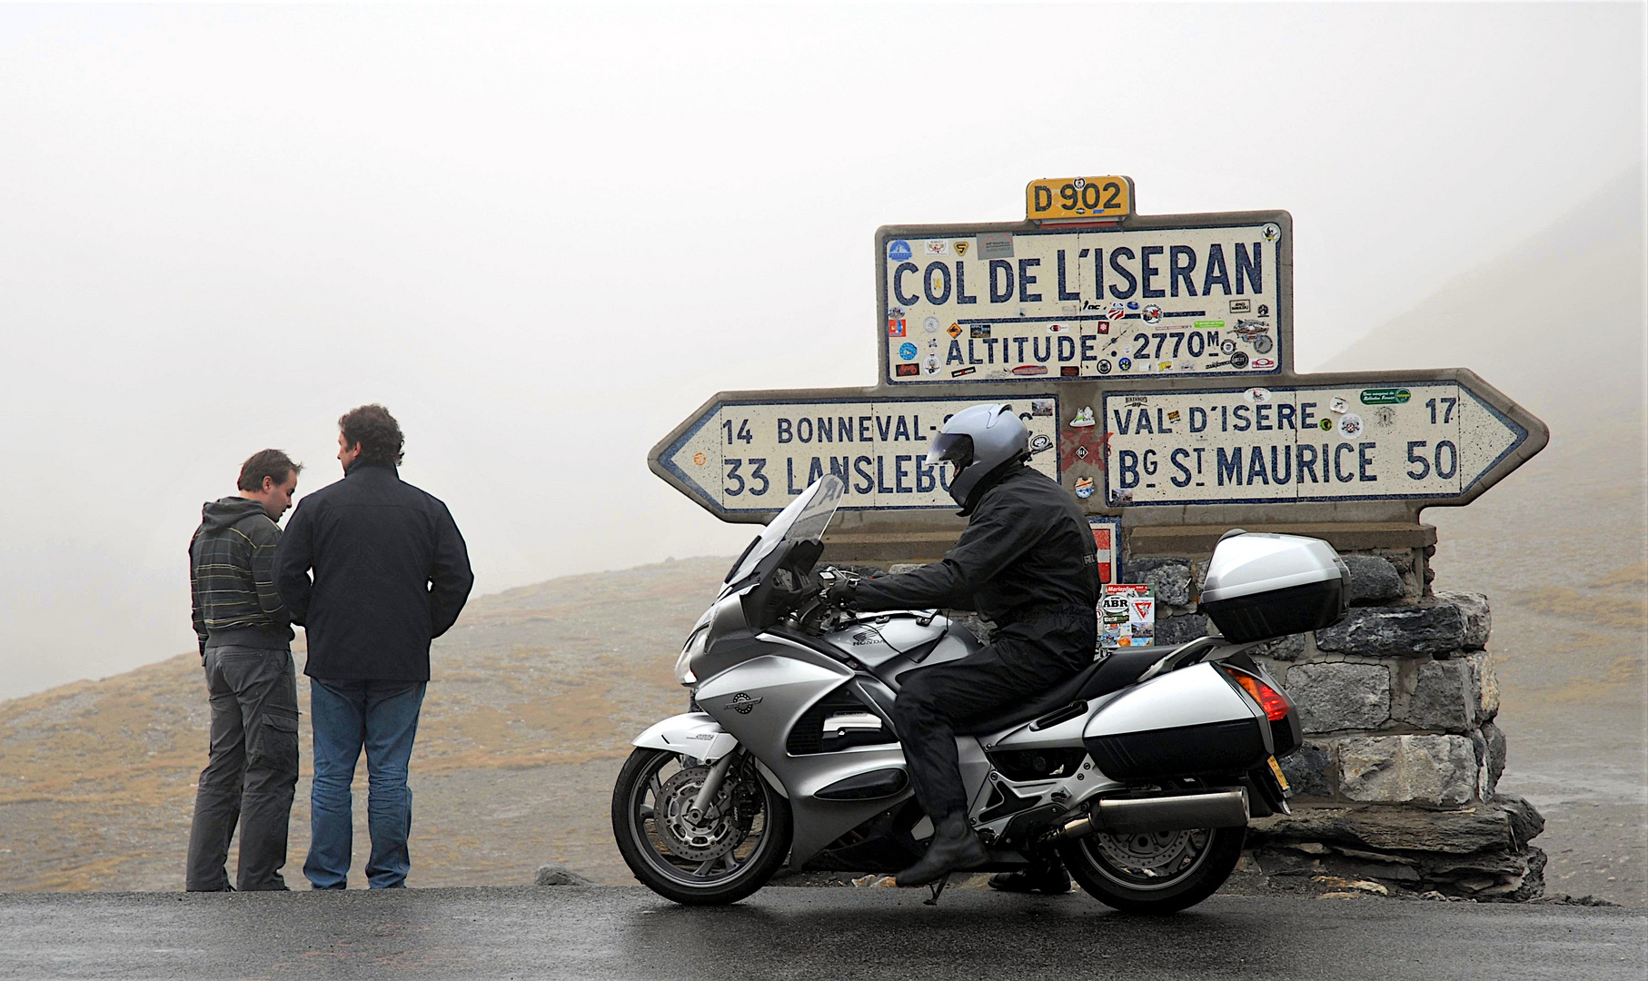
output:
<path id="1" fill-rule="evenodd" d="M 1477 750 L 1463 735 L 1369 735 L 1338 744 L 1340 793 L 1356 801 L 1463 805 L 1477 791 Z"/>

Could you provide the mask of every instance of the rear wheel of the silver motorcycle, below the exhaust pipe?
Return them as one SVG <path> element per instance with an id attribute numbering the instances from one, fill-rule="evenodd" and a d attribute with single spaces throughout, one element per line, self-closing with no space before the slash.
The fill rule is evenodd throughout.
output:
<path id="1" fill-rule="evenodd" d="M 1129 913 L 1177 913 L 1224 885 L 1246 838 L 1246 828 L 1096 831 L 1061 844 L 1058 854 L 1081 889 L 1104 905 Z"/>

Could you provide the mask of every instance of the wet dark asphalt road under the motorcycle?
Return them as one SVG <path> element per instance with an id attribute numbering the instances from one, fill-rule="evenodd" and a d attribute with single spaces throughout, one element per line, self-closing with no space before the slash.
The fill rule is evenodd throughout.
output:
<path id="1" fill-rule="evenodd" d="M 1648 910 L 1220 895 L 1165 920 L 1091 899 L 766 889 L 0 894 L 0 978 L 1648 976 Z"/>

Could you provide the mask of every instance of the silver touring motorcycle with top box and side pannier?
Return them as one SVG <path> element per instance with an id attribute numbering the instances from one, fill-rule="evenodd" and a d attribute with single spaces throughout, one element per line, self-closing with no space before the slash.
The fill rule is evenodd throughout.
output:
<path id="1" fill-rule="evenodd" d="M 852 575 L 811 577 L 844 490 L 819 478 L 733 562 L 676 661 L 691 711 L 638 735 L 618 775 L 618 849 L 666 899 L 737 902 L 786 861 L 892 874 L 933 838 L 893 701 L 910 673 L 981 643 L 938 610 L 854 613 L 803 589 Z M 1119 910 L 1211 895 L 1248 821 L 1289 813 L 1277 760 L 1302 742 L 1292 701 L 1249 651 L 1338 622 L 1348 584 L 1327 542 L 1233 529 L 1200 600 L 1221 636 L 1101 653 L 1040 697 L 967 719 L 961 775 L 990 854 L 977 871 L 1023 869 L 1051 849 Z"/>

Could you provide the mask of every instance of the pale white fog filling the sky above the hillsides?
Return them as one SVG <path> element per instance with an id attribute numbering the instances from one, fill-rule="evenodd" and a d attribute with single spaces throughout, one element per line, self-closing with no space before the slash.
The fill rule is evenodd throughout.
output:
<path id="1" fill-rule="evenodd" d="M 875 376 L 878 224 L 1285 208 L 1310 368 L 1643 155 L 1640 5 L 0 8 L 0 697 L 193 646 L 201 501 L 384 402 L 480 590 L 748 537 L 646 470 Z M 1529 302 L 1561 307 L 1561 297 Z"/>

